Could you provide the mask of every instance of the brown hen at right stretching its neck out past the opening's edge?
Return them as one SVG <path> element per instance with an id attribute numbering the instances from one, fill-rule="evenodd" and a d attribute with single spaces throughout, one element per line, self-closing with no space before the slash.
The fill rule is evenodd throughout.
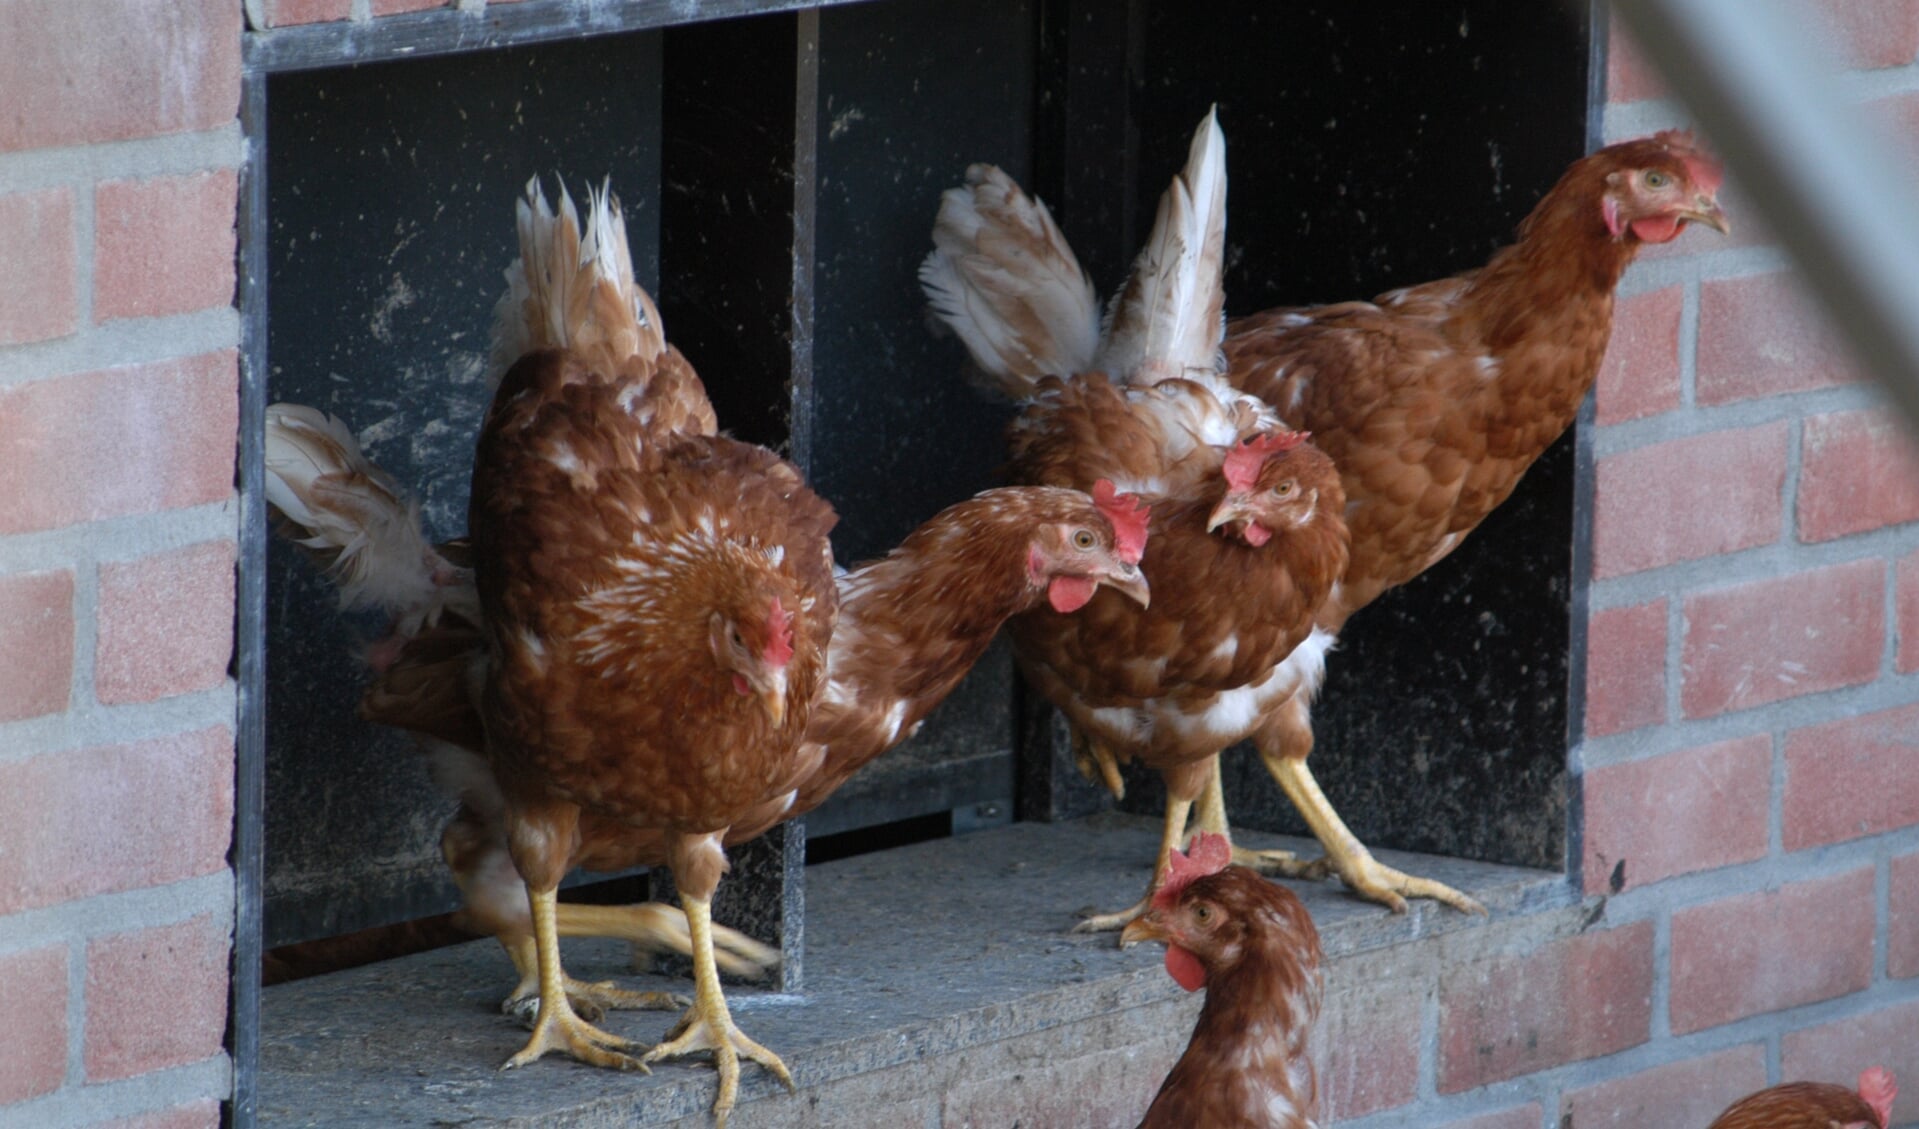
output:
<path id="1" fill-rule="evenodd" d="M 1606 146 L 1575 161 L 1520 240 L 1478 271 L 1226 326 L 1226 378 L 1313 432 L 1339 467 L 1353 553 L 1320 609 L 1324 632 L 1433 566 L 1512 493 L 1593 388 L 1620 275 L 1689 223 L 1725 232 L 1718 188 L 1719 165 L 1687 134 Z M 1393 910 L 1407 897 L 1472 906 L 1382 866 L 1345 828 L 1307 768 L 1313 726 L 1297 705 L 1259 739 L 1326 849 L 1293 874 L 1330 870 Z"/>

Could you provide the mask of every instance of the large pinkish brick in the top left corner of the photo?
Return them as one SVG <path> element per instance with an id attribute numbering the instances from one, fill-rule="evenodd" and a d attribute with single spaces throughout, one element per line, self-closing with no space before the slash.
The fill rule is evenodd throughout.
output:
<path id="1" fill-rule="evenodd" d="M 219 129 L 240 111 L 240 4 L 0 4 L 0 152 Z"/>

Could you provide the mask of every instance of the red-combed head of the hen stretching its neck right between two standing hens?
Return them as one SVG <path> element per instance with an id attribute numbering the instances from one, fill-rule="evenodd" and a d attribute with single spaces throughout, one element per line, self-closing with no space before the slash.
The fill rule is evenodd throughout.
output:
<path id="1" fill-rule="evenodd" d="M 1086 607 L 1102 584 L 1146 607 L 1151 599 L 1146 576 L 1140 574 L 1146 503 L 1132 493 L 1119 493 L 1102 478 L 1094 486 L 1092 507 L 1080 501 L 1073 511 L 1040 515 L 1027 545 L 1027 580 L 1046 589 L 1046 601 L 1057 613 Z"/>

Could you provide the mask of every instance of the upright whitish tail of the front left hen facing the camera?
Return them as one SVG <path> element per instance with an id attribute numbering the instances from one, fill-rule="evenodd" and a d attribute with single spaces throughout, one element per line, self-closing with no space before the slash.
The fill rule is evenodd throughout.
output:
<path id="1" fill-rule="evenodd" d="M 507 267 L 507 294 L 493 307 L 489 388 L 537 349 L 576 349 L 604 365 L 631 355 L 651 361 L 666 349 L 660 311 L 633 280 L 626 217 L 608 182 L 587 188 L 583 227 L 566 184 L 555 209 L 539 177 L 526 182 L 514 213 L 520 257 Z"/>

